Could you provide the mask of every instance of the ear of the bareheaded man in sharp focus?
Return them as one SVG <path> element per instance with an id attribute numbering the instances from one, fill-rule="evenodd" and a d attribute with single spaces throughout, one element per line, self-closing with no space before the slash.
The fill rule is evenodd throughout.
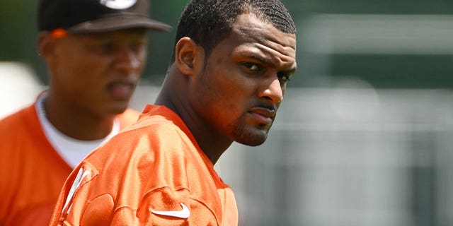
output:
<path id="1" fill-rule="evenodd" d="M 176 44 L 175 63 L 186 76 L 196 74 L 203 67 L 204 50 L 190 37 L 183 37 Z"/>

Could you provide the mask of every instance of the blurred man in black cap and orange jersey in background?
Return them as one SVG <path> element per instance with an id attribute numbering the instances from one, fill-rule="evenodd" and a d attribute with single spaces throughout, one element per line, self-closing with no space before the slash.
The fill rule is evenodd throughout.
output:
<path id="1" fill-rule="evenodd" d="M 70 172 L 137 121 L 127 109 L 147 59 L 149 0 L 40 0 L 50 86 L 0 121 L 0 225 L 48 225 Z"/>

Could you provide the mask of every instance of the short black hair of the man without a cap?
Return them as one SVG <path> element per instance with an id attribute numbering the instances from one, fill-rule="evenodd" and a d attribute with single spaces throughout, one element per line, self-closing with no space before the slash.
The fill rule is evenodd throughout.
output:
<path id="1" fill-rule="evenodd" d="M 190 37 L 209 56 L 243 13 L 254 14 L 282 32 L 296 33 L 294 20 L 280 0 L 191 0 L 180 16 L 175 47 L 182 37 Z M 172 63 L 174 57 L 173 51 Z"/>

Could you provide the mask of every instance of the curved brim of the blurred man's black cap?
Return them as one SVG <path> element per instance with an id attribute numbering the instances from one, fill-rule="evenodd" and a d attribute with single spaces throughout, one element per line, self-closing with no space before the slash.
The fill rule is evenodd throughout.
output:
<path id="1" fill-rule="evenodd" d="M 148 28 L 150 30 L 168 31 L 171 26 L 144 16 L 109 16 L 74 25 L 67 30 L 74 33 L 108 32 L 127 28 Z"/>

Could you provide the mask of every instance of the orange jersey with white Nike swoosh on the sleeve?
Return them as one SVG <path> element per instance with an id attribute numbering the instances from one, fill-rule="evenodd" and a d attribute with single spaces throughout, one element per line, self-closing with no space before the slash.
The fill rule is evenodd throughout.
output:
<path id="1" fill-rule="evenodd" d="M 139 121 L 74 169 L 50 225 L 237 225 L 231 188 L 175 112 Z"/>

